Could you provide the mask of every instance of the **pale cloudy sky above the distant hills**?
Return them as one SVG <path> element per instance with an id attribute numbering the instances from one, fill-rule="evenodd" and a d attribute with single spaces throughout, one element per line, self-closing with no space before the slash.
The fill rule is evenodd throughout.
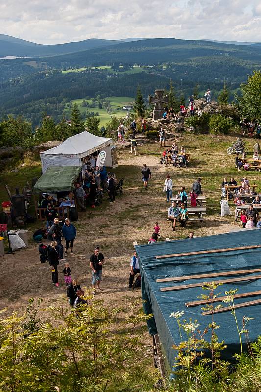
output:
<path id="1" fill-rule="evenodd" d="M 1 0 L 0 27 L 39 44 L 129 37 L 261 42 L 261 1 Z"/>

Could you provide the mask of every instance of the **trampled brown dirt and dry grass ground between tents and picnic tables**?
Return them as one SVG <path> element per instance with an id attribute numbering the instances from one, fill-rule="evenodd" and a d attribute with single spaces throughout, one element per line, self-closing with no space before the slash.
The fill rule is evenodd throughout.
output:
<path id="1" fill-rule="evenodd" d="M 217 171 L 216 165 L 213 164 L 213 149 L 216 147 L 209 147 L 209 151 L 199 149 L 197 138 L 192 136 L 189 139 L 177 137 L 176 140 L 179 147 L 183 145 L 187 151 L 190 150 L 191 165 L 188 169 L 168 168 L 161 165 L 159 160 L 163 149 L 159 147 L 159 143 L 151 142 L 138 146 L 136 157 L 130 154 L 128 147 L 121 146 L 118 150 L 119 167 L 115 172 L 118 179 L 124 177 L 123 195 L 117 196 L 115 203 L 109 203 L 108 196 L 105 194 L 103 203 L 99 207 L 90 208 L 86 213 L 79 213 L 79 221 L 73 222 L 77 228 L 75 256 L 67 256 L 72 278 L 78 278 L 83 287 L 91 287 L 89 257 L 93 253 L 94 246 L 100 245 L 101 252 L 105 256 L 105 264 L 101 283 L 103 291 L 97 294 L 97 298 L 104 300 L 108 306 L 128 306 L 128 302 L 133 301 L 133 298 L 140 298 L 140 290 L 133 292 L 128 289 L 129 264 L 134 250 L 133 241 L 137 241 L 138 244 L 147 243 L 156 221 L 161 228 L 161 239 L 184 238 L 190 229 L 193 229 L 197 236 L 225 233 L 229 232 L 231 225 L 235 225 L 233 216 L 224 218 L 218 216 L 220 186 L 216 189 L 215 185 L 214 190 L 207 189 L 208 186 L 211 188 L 212 176 L 218 176 L 218 183 L 222 182 L 223 175 L 220 174 L 220 168 Z M 213 141 L 211 137 L 210 141 L 214 146 L 215 143 L 224 143 L 223 139 Z M 167 146 L 171 146 L 171 143 L 169 141 Z M 215 159 L 222 158 L 220 164 L 222 167 L 226 168 L 228 162 L 231 166 L 232 160 L 234 166 L 234 157 L 226 156 L 218 150 L 216 154 L 218 156 L 215 156 Z M 152 172 L 152 180 L 147 191 L 143 189 L 142 183 L 143 163 L 146 163 Z M 163 193 L 167 173 L 171 174 L 176 189 L 184 184 L 190 190 L 195 178 L 199 175 L 203 178 L 204 193 L 212 200 L 213 197 L 217 200 L 217 210 L 209 210 L 203 227 L 194 223 L 188 225 L 185 230 L 178 227 L 176 232 L 172 232 L 171 224 L 166 220 L 169 203 L 166 202 L 166 195 Z M 32 233 L 29 234 L 31 237 Z M 43 307 L 62 304 L 68 306 L 62 275 L 63 267 L 63 263 L 60 263 L 58 267 L 60 287 L 56 288 L 51 283 L 49 264 L 41 264 L 39 261 L 37 244 L 30 240 L 27 249 L 15 252 L 13 255 L 5 254 L 0 258 L 0 309 L 7 307 L 8 313 L 15 309 L 23 312 L 28 298 L 31 297 L 42 298 Z"/>

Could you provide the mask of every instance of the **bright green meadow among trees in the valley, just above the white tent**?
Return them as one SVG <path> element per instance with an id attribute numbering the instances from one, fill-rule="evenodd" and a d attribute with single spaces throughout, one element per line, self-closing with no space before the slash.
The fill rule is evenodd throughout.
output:
<path id="1" fill-rule="evenodd" d="M 99 112 L 99 118 L 100 118 L 100 126 L 106 126 L 106 124 L 110 121 L 111 117 L 116 116 L 116 117 L 125 117 L 127 114 L 126 110 L 119 110 L 118 108 L 124 106 L 124 105 L 132 105 L 134 102 L 134 98 L 132 97 L 108 97 L 111 101 L 111 116 L 106 112 L 106 109 L 99 109 L 98 107 L 94 108 L 86 108 L 82 107 L 82 100 L 81 99 L 74 99 L 71 101 L 72 104 L 76 103 L 79 107 L 80 112 L 83 112 L 84 110 L 89 109 L 89 112 Z M 91 103 L 91 99 L 86 99 L 86 102 Z M 66 112 L 68 112 L 68 109 L 65 109 Z"/>

